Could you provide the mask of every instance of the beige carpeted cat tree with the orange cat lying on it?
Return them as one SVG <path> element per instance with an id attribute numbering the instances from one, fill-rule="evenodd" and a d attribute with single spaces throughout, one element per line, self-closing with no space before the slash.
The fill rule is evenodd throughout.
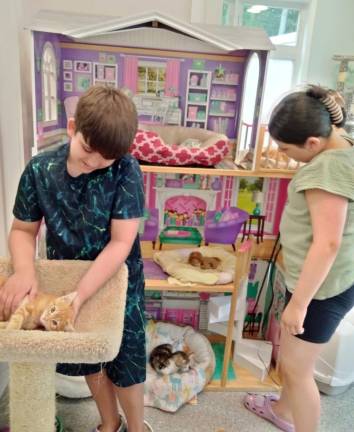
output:
<path id="1" fill-rule="evenodd" d="M 88 261 L 38 260 L 39 289 L 64 295 L 73 291 Z M 0 274 L 9 276 L 8 259 Z M 118 353 L 124 323 L 128 270 L 120 270 L 82 307 L 76 331 L 1 330 L 0 361 L 10 364 L 11 432 L 54 432 L 56 363 L 98 363 Z"/>

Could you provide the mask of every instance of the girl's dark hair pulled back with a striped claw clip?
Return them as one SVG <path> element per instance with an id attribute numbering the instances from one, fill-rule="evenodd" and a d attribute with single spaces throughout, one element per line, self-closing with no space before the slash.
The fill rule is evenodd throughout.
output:
<path id="1" fill-rule="evenodd" d="M 337 110 L 342 111 L 341 119 L 334 120 L 333 114 L 324 103 L 333 98 Z M 346 113 L 343 100 L 334 90 L 319 86 L 308 86 L 305 91 L 291 93 L 274 108 L 268 129 L 271 137 L 288 144 L 303 145 L 309 137 L 328 138 L 332 125 L 342 127 Z"/>

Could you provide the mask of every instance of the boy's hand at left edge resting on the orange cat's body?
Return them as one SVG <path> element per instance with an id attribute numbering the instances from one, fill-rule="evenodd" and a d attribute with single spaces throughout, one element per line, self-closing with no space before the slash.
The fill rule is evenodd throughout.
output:
<path id="1" fill-rule="evenodd" d="M 33 300 L 38 292 L 35 273 L 14 273 L 0 289 L 0 321 L 7 321 L 28 294 Z"/>

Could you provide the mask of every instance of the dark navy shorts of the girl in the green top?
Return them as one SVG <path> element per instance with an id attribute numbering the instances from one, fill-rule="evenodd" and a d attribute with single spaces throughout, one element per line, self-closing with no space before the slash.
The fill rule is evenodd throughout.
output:
<path id="1" fill-rule="evenodd" d="M 285 305 L 292 294 L 286 290 Z M 307 342 L 328 342 L 344 315 L 354 307 L 354 285 L 346 291 L 325 300 L 312 300 L 307 308 L 304 333 L 297 338 Z"/>

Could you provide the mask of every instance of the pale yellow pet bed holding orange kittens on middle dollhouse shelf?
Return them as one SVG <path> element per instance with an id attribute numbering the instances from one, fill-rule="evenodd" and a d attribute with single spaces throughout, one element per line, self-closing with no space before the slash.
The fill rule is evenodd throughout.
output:
<path id="1" fill-rule="evenodd" d="M 200 252 L 206 257 L 220 258 L 221 264 L 215 270 L 202 270 L 194 267 L 187 262 L 191 252 Z M 234 278 L 235 255 L 220 247 L 202 246 L 192 249 L 159 251 L 154 253 L 153 259 L 164 272 L 182 283 L 227 284 Z"/>

